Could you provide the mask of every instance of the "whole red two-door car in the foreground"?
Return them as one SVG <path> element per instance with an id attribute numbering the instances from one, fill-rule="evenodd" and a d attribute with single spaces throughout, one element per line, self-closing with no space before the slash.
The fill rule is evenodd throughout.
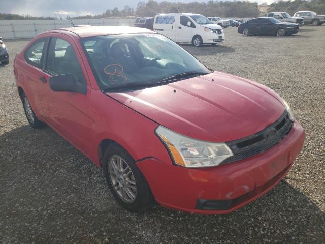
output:
<path id="1" fill-rule="evenodd" d="M 210 71 L 148 29 L 44 32 L 17 54 L 14 73 L 30 126 L 49 125 L 102 167 L 131 211 L 156 201 L 231 212 L 274 187 L 304 142 L 273 90 Z"/>

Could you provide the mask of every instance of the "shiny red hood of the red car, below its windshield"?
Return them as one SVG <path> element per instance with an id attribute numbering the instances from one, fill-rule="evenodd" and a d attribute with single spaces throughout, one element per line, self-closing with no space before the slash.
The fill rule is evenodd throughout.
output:
<path id="1" fill-rule="evenodd" d="M 268 87 L 221 72 L 107 95 L 175 132 L 213 142 L 259 132 L 285 109 Z"/>

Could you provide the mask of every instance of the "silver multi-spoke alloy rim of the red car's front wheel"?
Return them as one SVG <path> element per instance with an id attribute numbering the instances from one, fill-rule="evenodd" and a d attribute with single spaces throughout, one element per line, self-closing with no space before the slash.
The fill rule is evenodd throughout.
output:
<path id="1" fill-rule="evenodd" d="M 120 156 L 112 156 L 108 162 L 108 174 L 120 199 L 126 203 L 134 202 L 137 197 L 137 184 L 126 161 Z"/>

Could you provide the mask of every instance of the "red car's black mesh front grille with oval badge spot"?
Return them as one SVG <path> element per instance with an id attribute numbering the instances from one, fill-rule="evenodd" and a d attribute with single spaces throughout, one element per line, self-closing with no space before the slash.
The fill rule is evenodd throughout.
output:
<path id="1" fill-rule="evenodd" d="M 233 151 L 234 156 L 226 159 L 221 164 L 239 161 L 257 154 L 281 141 L 293 127 L 293 121 L 289 119 L 289 114 L 285 110 L 281 117 L 272 125 L 254 135 L 226 142 Z"/>

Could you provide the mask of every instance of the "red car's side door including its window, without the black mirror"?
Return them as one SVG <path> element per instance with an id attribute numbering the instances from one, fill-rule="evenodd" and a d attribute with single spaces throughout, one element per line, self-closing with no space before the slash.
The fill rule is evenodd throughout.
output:
<path id="1" fill-rule="evenodd" d="M 57 34 L 49 40 L 45 57 L 43 81 L 39 84 L 39 96 L 43 116 L 47 123 L 83 152 L 90 151 L 94 121 L 88 116 L 91 93 L 85 67 L 74 41 Z M 76 83 L 87 86 L 87 93 L 53 91 L 49 77 L 73 74 Z"/>

